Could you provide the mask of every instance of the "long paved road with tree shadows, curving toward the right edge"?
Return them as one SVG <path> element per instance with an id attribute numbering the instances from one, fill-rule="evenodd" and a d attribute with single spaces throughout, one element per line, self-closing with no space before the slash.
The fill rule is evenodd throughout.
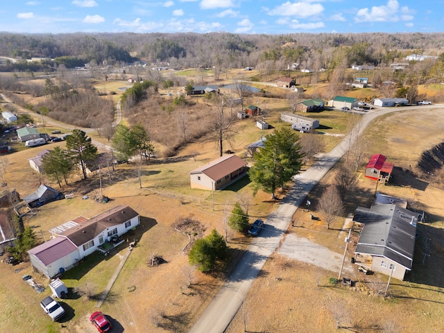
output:
<path id="1" fill-rule="evenodd" d="M 424 106 L 403 108 L 379 108 L 364 114 L 357 126 L 366 128 L 374 119 L 391 112 L 416 110 Z M 443 105 L 427 105 L 427 108 L 443 108 Z M 356 131 L 352 131 L 355 133 Z M 352 137 L 351 140 L 355 138 Z M 239 307 L 248 293 L 255 278 L 264 266 L 266 259 L 279 246 L 289 221 L 302 204 L 309 191 L 325 176 L 334 164 L 343 156 L 350 144 L 350 134 L 325 153 L 307 171 L 296 176 L 296 182 L 274 212 L 268 215 L 264 230 L 248 247 L 248 251 L 237 264 L 221 290 L 213 298 L 198 321 L 191 327 L 190 333 L 222 333 L 230 325 Z"/>

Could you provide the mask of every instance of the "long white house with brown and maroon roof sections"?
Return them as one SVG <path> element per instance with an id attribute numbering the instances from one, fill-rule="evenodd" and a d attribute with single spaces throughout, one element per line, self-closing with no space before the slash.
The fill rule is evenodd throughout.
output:
<path id="1" fill-rule="evenodd" d="M 140 224 L 139 214 L 129 206 L 119 205 L 92 219 L 80 217 L 80 223 L 65 223 L 56 237 L 28 251 L 35 271 L 53 278 L 72 268 L 95 250 L 108 253 L 123 243 L 121 235 Z"/>

